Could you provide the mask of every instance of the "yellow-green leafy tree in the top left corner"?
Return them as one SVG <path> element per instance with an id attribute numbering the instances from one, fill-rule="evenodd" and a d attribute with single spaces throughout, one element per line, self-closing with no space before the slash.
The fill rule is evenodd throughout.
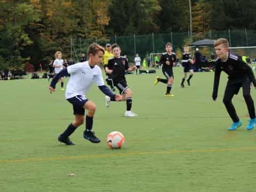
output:
<path id="1" fill-rule="evenodd" d="M 21 52 L 33 43 L 26 33 L 26 29 L 31 23 L 38 22 L 39 15 L 37 11 L 28 3 L 14 1 L 2 1 L 1 9 L 4 12 L 2 28 L 0 31 L 0 55 L 8 62 L 10 66 L 21 66 L 29 59 L 22 57 Z M 1 15 L 1 16 L 2 16 Z"/>

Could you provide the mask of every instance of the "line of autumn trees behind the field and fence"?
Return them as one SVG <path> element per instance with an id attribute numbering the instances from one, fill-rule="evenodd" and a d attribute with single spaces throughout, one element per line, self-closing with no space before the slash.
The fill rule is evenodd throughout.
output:
<path id="1" fill-rule="evenodd" d="M 256 1 L 191 0 L 193 37 L 256 29 Z M 69 57 L 70 38 L 189 31 L 189 0 L 0 0 L 0 68 Z"/>

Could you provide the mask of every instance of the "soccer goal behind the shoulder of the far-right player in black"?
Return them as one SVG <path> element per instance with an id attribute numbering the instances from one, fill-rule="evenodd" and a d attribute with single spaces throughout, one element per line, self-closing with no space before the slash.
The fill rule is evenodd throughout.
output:
<path id="1" fill-rule="evenodd" d="M 239 56 L 245 55 L 250 62 L 256 63 L 256 46 L 247 47 L 229 47 L 229 52 L 237 54 Z"/>

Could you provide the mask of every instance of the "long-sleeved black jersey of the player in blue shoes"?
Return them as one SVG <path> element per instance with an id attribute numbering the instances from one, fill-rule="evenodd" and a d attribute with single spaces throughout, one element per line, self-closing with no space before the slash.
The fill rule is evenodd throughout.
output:
<path id="1" fill-rule="evenodd" d="M 244 77 L 248 77 L 250 81 L 256 86 L 255 77 L 252 68 L 245 63 L 241 57 L 234 55 L 232 53 L 228 54 L 228 60 L 223 62 L 220 59 L 216 60 L 215 75 L 214 75 L 214 85 L 213 85 L 213 95 L 216 96 L 218 93 L 220 73 L 225 71 L 228 74 L 228 79 L 230 82 L 238 83 Z"/>

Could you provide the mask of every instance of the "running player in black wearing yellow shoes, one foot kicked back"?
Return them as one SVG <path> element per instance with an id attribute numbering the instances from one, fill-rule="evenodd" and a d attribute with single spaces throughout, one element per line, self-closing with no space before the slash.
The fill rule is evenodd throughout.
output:
<path id="1" fill-rule="evenodd" d="M 158 82 L 162 82 L 167 84 L 165 97 L 173 97 L 174 95 L 170 93 L 173 85 L 173 70 L 172 67 L 175 65 L 176 55 L 175 53 L 172 53 L 172 44 L 167 43 L 165 45 L 166 53 L 162 55 L 162 57 L 159 60 L 159 63 L 163 64 L 162 71 L 166 79 L 162 79 L 160 77 L 156 77 L 155 79 L 155 85 Z"/>

